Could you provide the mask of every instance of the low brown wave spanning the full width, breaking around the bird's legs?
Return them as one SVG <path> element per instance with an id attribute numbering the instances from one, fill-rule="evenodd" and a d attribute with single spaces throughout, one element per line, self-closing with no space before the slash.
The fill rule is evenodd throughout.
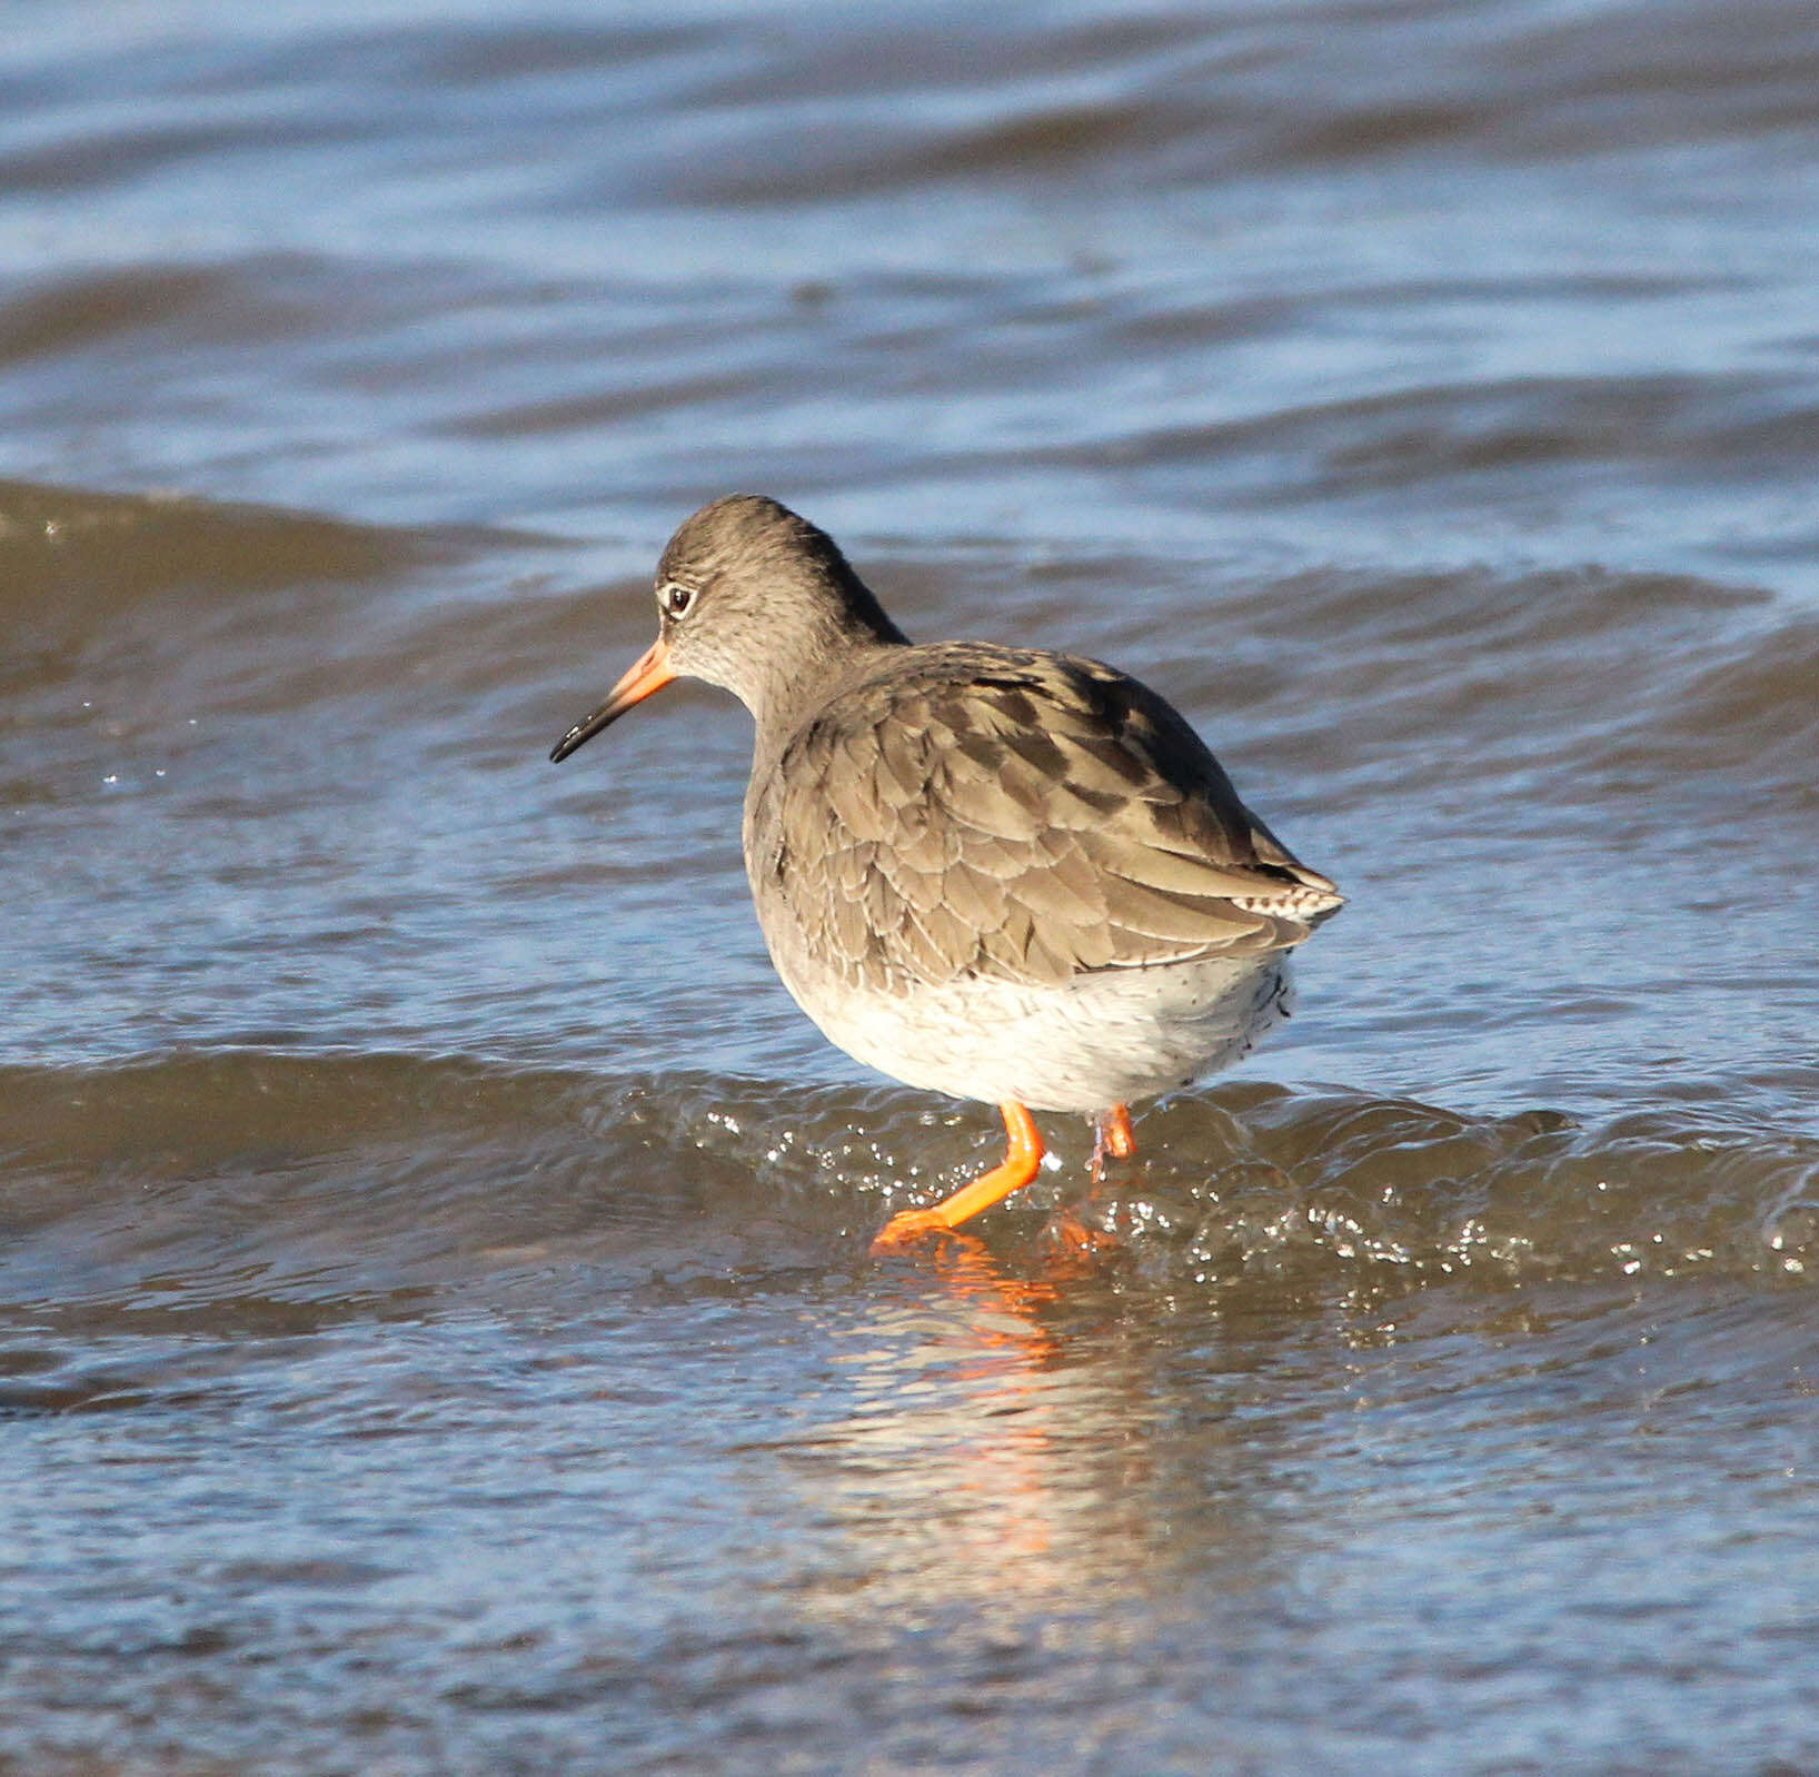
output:
<path id="1" fill-rule="evenodd" d="M 1168 1290 L 1819 1268 L 1819 1142 L 1721 1113 L 1461 1117 L 1237 1082 L 1146 1115 L 1141 1159 L 1099 1188 L 1084 1126 L 1044 1122 L 1051 1170 L 975 1224 L 1013 1262 L 1066 1215 Z M 256 1051 L 4 1069 L 0 1128 L 9 1299 L 140 1300 L 162 1279 L 267 1306 L 522 1270 L 598 1290 L 844 1268 L 1000 1140 L 988 1111 L 899 1088 Z"/>

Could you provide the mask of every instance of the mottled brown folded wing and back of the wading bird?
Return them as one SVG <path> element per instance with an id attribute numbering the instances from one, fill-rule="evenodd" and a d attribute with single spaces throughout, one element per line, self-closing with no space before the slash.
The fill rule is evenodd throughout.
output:
<path id="1" fill-rule="evenodd" d="M 871 988 L 1282 949 L 1341 904 L 1153 691 L 975 642 L 829 700 L 755 786 L 751 840 L 804 949 Z"/>

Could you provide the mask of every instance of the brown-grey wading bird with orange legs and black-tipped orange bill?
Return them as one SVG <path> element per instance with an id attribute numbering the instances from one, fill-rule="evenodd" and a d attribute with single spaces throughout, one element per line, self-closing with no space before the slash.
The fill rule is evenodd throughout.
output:
<path id="1" fill-rule="evenodd" d="M 1239 800 L 1188 722 L 1115 668 L 911 646 L 833 538 L 775 500 L 704 506 L 657 566 L 657 640 L 555 746 L 678 677 L 757 724 L 746 875 L 771 962 L 848 1055 L 997 1102 L 1002 1164 L 875 1250 L 955 1228 L 1042 1164 L 1031 1109 L 1097 1120 L 1248 1053 L 1286 959 L 1342 902 Z"/>

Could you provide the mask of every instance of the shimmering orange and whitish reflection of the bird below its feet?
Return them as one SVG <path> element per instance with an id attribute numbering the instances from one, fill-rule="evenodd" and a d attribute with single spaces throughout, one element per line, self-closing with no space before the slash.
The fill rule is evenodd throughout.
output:
<path id="1" fill-rule="evenodd" d="M 809 1526 L 789 1608 L 871 1684 L 942 1672 L 962 1708 L 1006 1682 L 1070 1710 L 1210 1571 L 1224 1601 L 1255 1575 L 1250 1439 L 1208 1411 L 1206 1320 L 1175 1324 L 1079 1233 L 953 1233 L 815 1313 L 831 1364 L 786 1457 Z"/>

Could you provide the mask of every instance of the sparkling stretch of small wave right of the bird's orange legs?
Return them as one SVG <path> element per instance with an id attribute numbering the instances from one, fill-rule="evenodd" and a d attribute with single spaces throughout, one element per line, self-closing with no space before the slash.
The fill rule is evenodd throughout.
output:
<path id="1" fill-rule="evenodd" d="M 1157 1190 L 1115 1202 L 1111 1224 L 1153 1222 L 1202 1282 L 1803 1279 L 1819 1262 L 1819 1142 L 1681 1109 L 1461 1117 L 1237 1088 L 1157 1124 Z"/>

